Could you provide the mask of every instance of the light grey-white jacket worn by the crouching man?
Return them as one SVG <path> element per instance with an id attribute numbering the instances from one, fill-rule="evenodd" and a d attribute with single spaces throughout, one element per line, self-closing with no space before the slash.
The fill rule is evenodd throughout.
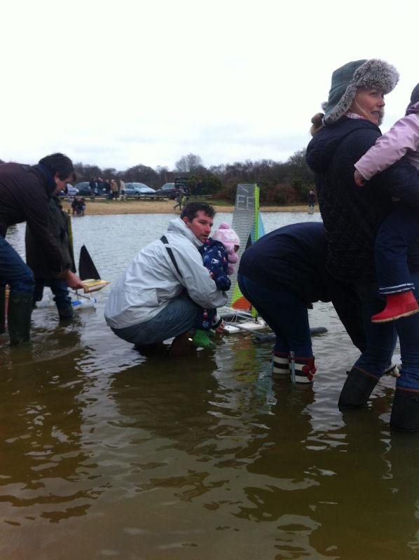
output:
<path id="1" fill-rule="evenodd" d="M 142 248 L 111 290 L 105 308 L 110 327 L 124 328 L 149 321 L 185 288 L 200 307 L 212 309 L 226 304 L 226 294 L 217 290 L 202 265 L 198 251 L 201 241 L 184 221 L 170 221 L 164 235 L 181 275 L 160 239 Z"/>

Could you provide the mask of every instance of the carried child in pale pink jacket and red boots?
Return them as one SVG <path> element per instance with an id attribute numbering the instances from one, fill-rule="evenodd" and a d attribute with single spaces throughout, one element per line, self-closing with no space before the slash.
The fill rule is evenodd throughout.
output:
<path id="1" fill-rule="evenodd" d="M 406 115 L 355 163 L 355 183 L 364 186 L 371 177 L 404 155 L 419 169 L 419 84 L 411 94 Z M 395 321 L 419 311 L 407 263 L 408 248 L 419 238 L 419 220 L 417 214 L 398 206 L 394 204 L 394 211 L 380 225 L 376 238 L 378 286 L 386 303 L 383 311 L 371 317 L 373 323 Z"/>

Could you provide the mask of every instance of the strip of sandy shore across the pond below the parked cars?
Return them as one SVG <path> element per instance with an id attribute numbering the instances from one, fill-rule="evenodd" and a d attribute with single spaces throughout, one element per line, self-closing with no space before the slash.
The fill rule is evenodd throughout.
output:
<path id="1" fill-rule="evenodd" d="M 62 201 L 65 210 L 70 208 L 69 202 Z M 179 210 L 173 209 L 173 200 L 86 200 L 85 214 L 90 216 L 104 216 L 106 214 L 173 214 Z M 217 212 L 233 212 L 233 206 L 214 205 Z M 263 212 L 306 212 L 306 206 L 270 206 L 261 207 Z M 180 213 L 179 213 L 180 214 Z"/>

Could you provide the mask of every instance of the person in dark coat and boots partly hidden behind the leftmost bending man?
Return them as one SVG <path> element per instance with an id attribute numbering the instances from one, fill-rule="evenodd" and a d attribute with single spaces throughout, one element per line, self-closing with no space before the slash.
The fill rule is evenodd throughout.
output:
<path id="1" fill-rule="evenodd" d="M 63 211 L 61 202 L 57 197 L 50 198 L 49 209 L 51 232 L 57 241 L 57 245 L 61 248 L 64 266 L 72 272 L 76 272 L 73 248 L 69 239 L 69 216 Z M 57 277 L 51 269 L 45 251 L 43 251 L 38 239 L 28 225 L 25 235 L 25 251 L 27 265 L 32 269 L 35 277 L 35 289 L 32 297 L 33 307 L 36 307 L 36 302 L 42 300 L 43 288 L 49 286 L 54 295 L 58 316 L 61 320 L 71 319 L 73 317 L 73 306 L 67 281 L 64 278 Z"/>

